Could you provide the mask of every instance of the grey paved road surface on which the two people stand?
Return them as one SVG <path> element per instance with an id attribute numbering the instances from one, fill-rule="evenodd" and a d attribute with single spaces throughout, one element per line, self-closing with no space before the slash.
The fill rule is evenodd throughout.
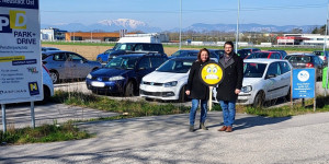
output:
<path id="1" fill-rule="evenodd" d="M 188 131 L 188 114 L 80 124 L 95 138 L 1 147 L 0 163 L 329 163 L 329 113 L 284 118 L 238 114 L 234 132 Z M 196 121 L 197 122 L 197 121 Z"/>

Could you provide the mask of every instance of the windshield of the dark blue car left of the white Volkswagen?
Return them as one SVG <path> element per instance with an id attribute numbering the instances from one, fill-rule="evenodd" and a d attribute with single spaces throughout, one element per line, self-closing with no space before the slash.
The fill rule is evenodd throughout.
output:
<path id="1" fill-rule="evenodd" d="M 112 59 L 105 68 L 132 70 L 136 66 L 138 57 L 117 57 Z"/>

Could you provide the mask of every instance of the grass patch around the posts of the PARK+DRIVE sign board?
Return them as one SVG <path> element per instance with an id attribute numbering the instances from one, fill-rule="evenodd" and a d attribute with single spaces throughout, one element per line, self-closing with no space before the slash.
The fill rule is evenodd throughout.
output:
<path id="1" fill-rule="evenodd" d="M 63 125 L 43 125 L 41 127 L 0 131 L 0 143 L 23 144 L 36 142 L 55 142 L 91 138 L 87 131 L 80 131 L 71 121 Z"/>

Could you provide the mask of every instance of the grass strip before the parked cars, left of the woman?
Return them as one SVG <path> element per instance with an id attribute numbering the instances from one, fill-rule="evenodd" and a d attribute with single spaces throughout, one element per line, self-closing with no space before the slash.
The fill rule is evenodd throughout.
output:
<path id="1" fill-rule="evenodd" d="M 177 106 L 173 104 L 158 105 L 146 101 L 116 101 L 105 96 L 83 94 L 80 92 L 57 91 L 53 97 L 55 103 L 90 107 L 94 109 L 114 112 L 127 115 L 129 117 L 159 116 L 183 114 L 190 110 L 186 106 Z"/>

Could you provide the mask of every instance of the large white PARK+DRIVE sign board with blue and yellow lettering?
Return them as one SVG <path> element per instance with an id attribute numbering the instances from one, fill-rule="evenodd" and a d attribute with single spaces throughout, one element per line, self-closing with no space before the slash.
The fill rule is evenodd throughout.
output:
<path id="1" fill-rule="evenodd" d="M 42 101 L 38 0 L 0 0 L 0 104 Z"/>

